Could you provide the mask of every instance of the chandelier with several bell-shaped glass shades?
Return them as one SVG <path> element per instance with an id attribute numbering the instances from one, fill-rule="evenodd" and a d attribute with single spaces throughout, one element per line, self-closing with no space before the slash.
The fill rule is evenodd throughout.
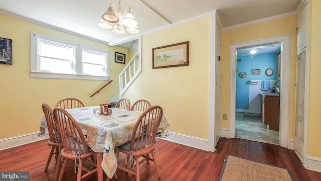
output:
<path id="1" fill-rule="evenodd" d="M 115 10 L 115 5 L 111 3 L 108 10 L 101 16 L 101 20 L 98 21 L 97 25 L 101 28 L 112 30 L 112 32 L 116 34 L 125 34 L 126 32 L 133 34 L 139 33 L 137 22 L 132 16 L 129 7 L 126 7 L 124 12 L 122 12 L 119 0 L 117 13 Z M 112 23 L 116 25 L 113 26 Z"/>

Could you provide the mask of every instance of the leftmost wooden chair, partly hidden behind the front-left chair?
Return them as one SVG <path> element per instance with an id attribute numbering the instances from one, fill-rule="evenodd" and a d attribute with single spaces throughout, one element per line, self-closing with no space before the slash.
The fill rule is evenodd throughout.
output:
<path id="1" fill-rule="evenodd" d="M 48 157 L 48 160 L 47 160 L 46 167 L 45 167 L 45 171 L 47 171 L 49 163 L 52 158 L 52 155 L 55 154 L 56 164 L 57 164 L 57 162 L 60 162 L 59 154 L 62 149 L 62 143 L 60 141 L 60 134 L 58 131 L 58 125 L 56 124 L 56 122 L 54 120 L 54 115 L 53 115 L 52 109 L 50 108 L 50 106 L 48 104 L 44 103 L 44 104 L 42 104 L 42 110 L 45 113 L 47 127 L 48 127 L 48 133 L 49 133 L 48 146 L 52 147 L 49 157 Z M 59 157 L 59 160 L 58 160 L 58 157 Z M 55 178 L 56 178 L 55 180 L 57 180 L 57 177 L 58 177 L 58 175 L 55 175 Z"/>

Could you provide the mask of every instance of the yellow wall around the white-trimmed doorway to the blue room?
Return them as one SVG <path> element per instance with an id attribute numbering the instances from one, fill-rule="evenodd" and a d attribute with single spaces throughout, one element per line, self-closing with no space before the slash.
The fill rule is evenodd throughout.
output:
<path id="1" fill-rule="evenodd" d="M 297 16 L 248 25 L 222 32 L 222 97 L 221 115 L 230 114 L 230 46 L 234 43 L 290 34 L 290 82 L 295 80 Z M 295 86 L 290 83 L 289 138 L 294 138 Z M 221 116 L 222 117 L 222 116 Z M 221 127 L 229 128 L 228 120 L 221 119 Z"/>

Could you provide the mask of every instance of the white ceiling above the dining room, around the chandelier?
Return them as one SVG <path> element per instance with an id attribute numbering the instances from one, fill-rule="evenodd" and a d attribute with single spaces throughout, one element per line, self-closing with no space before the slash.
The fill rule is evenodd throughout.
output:
<path id="1" fill-rule="evenodd" d="M 1 3 L 0 13 L 116 45 L 118 42 L 131 41 L 140 35 L 168 28 L 171 25 L 208 16 L 214 10 L 218 11 L 222 28 L 227 28 L 267 17 L 295 13 L 300 1 L 122 0 L 121 9 L 124 11 L 127 6 L 130 7 L 140 29 L 139 34 L 123 35 L 114 34 L 111 30 L 102 29 L 96 24 L 110 3 L 114 3 L 118 9 L 117 0 L 10 0 Z"/>

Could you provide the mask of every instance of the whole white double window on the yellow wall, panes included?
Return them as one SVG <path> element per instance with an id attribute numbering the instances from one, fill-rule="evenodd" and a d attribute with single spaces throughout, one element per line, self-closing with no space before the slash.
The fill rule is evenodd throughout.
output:
<path id="1" fill-rule="evenodd" d="M 32 32 L 31 77 L 109 80 L 109 51 Z"/>

